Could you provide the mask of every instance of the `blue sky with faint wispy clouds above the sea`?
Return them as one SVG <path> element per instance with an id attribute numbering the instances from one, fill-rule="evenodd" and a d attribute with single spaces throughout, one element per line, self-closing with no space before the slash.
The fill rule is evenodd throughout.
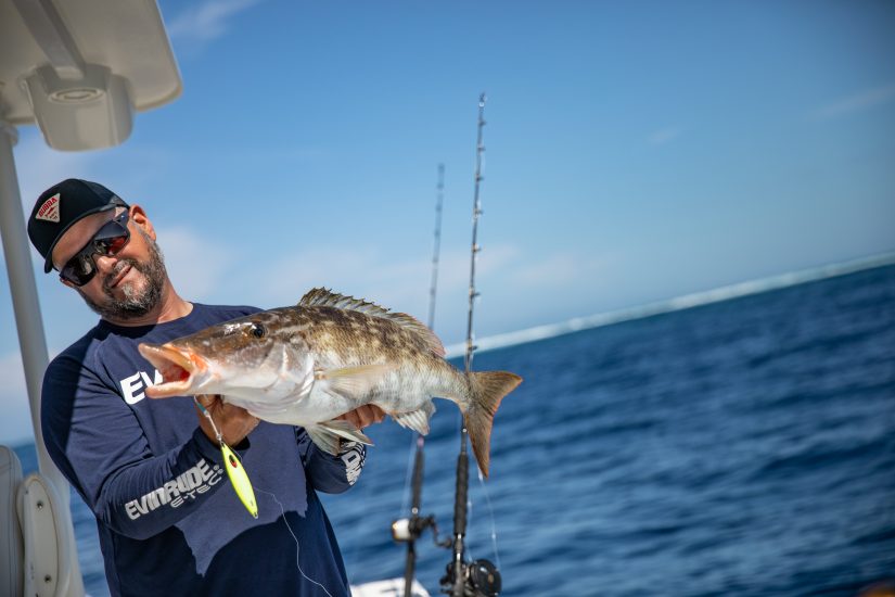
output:
<path id="1" fill-rule="evenodd" d="M 159 3 L 183 91 L 124 144 L 14 148 L 144 207 L 186 298 L 314 287 L 465 334 L 487 94 L 480 336 L 895 251 L 895 3 Z M 51 356 L 97 317 L 33 251 Z M 5 265 L 0 443 L 28 440 Z"/>

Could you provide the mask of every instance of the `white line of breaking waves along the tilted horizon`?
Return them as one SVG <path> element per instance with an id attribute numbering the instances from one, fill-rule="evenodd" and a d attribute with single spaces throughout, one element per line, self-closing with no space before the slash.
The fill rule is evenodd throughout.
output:
<path id="1" fill-rule="evenodd" d="M 575 317 L 559 323 L 547 323 L 514 332 L 476 339 L 476 352 L 481 353 L 484 351 L 494 351 L 497 348 L 504 348 L 507 346 L 525 344 L 526 342 L 547 340 L 548 338 L 555 338 L 558 335 L 588 330 L 591 328 L 611 326 L 622 321 L 629 321 L 632 319 L 641 319 L 644 317 L 652 317 L 654 315 L 700 307 L 712 303 L 720 303 L 723 301 L 730 301 L 731 298 L 740 298 L 742 296 L 760 294 L 763 292 L 780 290 L 806 282 L 826 280 L 828 278 L 835 278 L 839 276 L 847 276 L 848 274 L 855 274 L 865 269 L 873 269 L 875 267 L 893 264 L 895 264 L 895 253 L 883 253 L 880 255 L 860 257 L 848 262 L 829 264 L 820 267 L 791 271 L 789 274 L 781 274 L 779 276 L 760 278 L 758 280 L 749 280 L 703 292 L 685 294 L 675 298 L 656 301 L 645 305 L 626 307 L 623 309 L 599 313 L 585 317 Z M 448 358 L 461 356 L 465 350 L 466 344 L 464 342 L 451 344 L 446 347 Z"/>

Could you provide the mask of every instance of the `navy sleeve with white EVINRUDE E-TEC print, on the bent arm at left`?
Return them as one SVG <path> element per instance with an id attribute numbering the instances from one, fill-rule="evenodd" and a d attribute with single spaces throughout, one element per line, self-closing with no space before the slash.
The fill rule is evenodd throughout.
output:
<path id="1" fill-rule="evenodd" d="M 197 424 L 183 444 L 152 454 L 129 406 L 72 356 L 47 369 L 41 427 L 50 457 L 87 506 L 131 538 L 171 526 L 226 484 L 222 455 Z"/>

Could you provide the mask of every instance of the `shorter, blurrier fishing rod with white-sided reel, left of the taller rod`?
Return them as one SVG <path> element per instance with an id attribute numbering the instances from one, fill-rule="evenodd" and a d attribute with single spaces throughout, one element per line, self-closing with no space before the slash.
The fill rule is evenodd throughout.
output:
<path id="1" fill-rule="evenodd" d="M 429 288 L 429 329 L 435 329 L 435 295 L 438 285 L 438 254 L 442 246 L 442 205 L 444 204 L 445 191 L 445 165 L 438 164 L 438 186 L 435 200 L 435 242 L 432 252 L 432 282 Z M 392 523 L 392 536 L 395 541 L 407 542 L 407 562 L 404 569 L 404 596 L 413 596 L 413 575 L 417 567 L 417 539 L 429 526 L 433 528 L 435 543 L 442 547 L 450 547 L 450 541 L 438 542 L 438 528 L 435 525 L 435 517 L 420 517 L 423 490 L 423 447 L 425 437 L 422 433 L 417 434 L 417 453 L 413 456 L 413 477 L 411 482 L 410 518 L 397 520 Z"/>

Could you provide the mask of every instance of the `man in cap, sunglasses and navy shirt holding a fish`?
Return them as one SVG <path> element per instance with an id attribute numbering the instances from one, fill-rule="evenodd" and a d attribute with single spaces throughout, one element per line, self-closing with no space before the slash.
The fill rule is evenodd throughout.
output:
<path id="1" fill-rule="evenodd" d="M 158 373 L 137 351 L 252 307 L 181 298 L 168 280 L 156 233 L 139 205 L 95 182 L 67 179 L 44 191 L 28 236 L 62 283 L 101 319 L 60 354 L 43 379 L 47 448 L 97 517 L 112 595 L 347 595 L 338 546 L 315 490 L 348 488 L 361 445 L 333 457 L 302 429 L 276 425 L 200 399 L 240 454 L 258 519 L 225 474 L 212 424 L 192 399 L 145 398 Z M 381 420 L 366 407 L 357 427 Z"/>

